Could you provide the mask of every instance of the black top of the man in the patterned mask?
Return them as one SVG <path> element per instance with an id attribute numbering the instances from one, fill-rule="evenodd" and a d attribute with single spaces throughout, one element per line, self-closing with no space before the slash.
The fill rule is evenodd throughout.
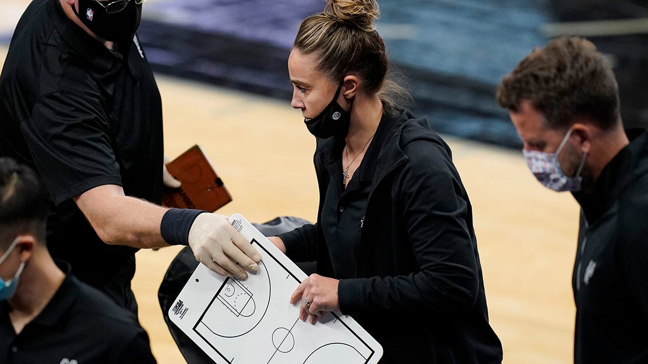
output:
<path id="1" fill-rule="evenodd" d="M 581 205 L 572 286 L 574 363 L 648 363 L 648 133 L 601 170 Z"/>

